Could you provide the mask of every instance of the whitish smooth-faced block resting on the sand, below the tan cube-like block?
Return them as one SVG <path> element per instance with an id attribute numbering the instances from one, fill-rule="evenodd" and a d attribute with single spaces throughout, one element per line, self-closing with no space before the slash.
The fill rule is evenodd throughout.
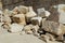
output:
<path id="1" fill-rule="evenodd" d="M 18 25 L 18 24 L 12 24 L 10 25 L 10 32 L 21 32 L 23 30 L 24 26 L 23 25 Z"/>

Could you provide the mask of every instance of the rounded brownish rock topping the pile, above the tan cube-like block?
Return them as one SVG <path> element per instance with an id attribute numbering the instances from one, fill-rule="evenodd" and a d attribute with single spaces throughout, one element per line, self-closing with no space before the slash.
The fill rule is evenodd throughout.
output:
<path id="1" fill-rule="evenodd" d="M 28 12 L 28 6 L 20 5 L 13 9 L 14 14 L 26 14 Z"/>

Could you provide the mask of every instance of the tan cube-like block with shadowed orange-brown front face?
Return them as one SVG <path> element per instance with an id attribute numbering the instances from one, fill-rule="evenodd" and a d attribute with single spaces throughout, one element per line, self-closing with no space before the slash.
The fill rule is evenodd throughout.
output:
<path id="1" fill-rule="evenodd" d="M 13 16 L 14 23 L 26 25 L 25 15 L 24 14 L 17 14 Z"/>

